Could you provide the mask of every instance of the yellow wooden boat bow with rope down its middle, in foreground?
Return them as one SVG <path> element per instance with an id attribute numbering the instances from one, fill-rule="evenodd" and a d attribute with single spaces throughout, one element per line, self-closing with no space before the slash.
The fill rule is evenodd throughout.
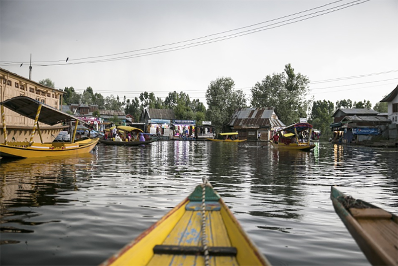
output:
<path id="1" fill-rule="evenodd" d="M 188 198 L 102 266 L 201 266 L 206 262 L 219 266 L 270 265 L 208 183 L 203 210 L 202 192 L 202 185 L 197 186 Z"/>

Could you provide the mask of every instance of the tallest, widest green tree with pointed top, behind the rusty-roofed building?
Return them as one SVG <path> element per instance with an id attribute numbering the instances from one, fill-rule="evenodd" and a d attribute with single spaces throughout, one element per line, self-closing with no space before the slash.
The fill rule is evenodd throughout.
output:
<path id="1" fill-rule="evenodd" d="M 278 118 L 285 124 L 297 123 L 306 118 L 310 101 L 306 100 L 309 80 L 296 74 L 291 64 L 283 73 L 267 75 L 251 89 L 253 107 L 274 107 Z"/>

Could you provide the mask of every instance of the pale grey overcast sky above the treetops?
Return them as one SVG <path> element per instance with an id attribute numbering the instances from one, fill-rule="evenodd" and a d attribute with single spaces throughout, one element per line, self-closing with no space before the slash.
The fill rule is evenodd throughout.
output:
<path id="1" fill-rule="evenodd" d="M 206 105 L 210 82 L 231 77 L 250 105 L 291 63 L 314 100 L 374 106 L 398 84 L 398 1 L 1 0 L 0 67 L 28 78 L 30 54 L 32 80 L 104 97 L 184 91 Z"/>

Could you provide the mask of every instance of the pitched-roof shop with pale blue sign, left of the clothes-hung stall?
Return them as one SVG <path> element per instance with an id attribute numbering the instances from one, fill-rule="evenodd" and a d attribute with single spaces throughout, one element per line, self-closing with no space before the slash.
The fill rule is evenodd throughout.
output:
<path id="1" fill-rule="evenodd" d="M 140 122 L 146 124 L 145 133 L 158 134 L 164 140 L 173 139 L 171 122 L 176 119 L 172 109 L 151 109 L 142 111 Z"/>

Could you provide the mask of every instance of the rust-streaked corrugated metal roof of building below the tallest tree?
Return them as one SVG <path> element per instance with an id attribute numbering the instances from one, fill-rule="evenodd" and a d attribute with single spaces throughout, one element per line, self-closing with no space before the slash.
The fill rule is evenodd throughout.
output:
<path id="1" fill-rule="evenodd" d="M 233 113 L 230 127 L 285 127 L 279 120 L 272 118 L 273 108 L 239 108 Z M 276 115 L 275 115 L 276 116 Z"/>

